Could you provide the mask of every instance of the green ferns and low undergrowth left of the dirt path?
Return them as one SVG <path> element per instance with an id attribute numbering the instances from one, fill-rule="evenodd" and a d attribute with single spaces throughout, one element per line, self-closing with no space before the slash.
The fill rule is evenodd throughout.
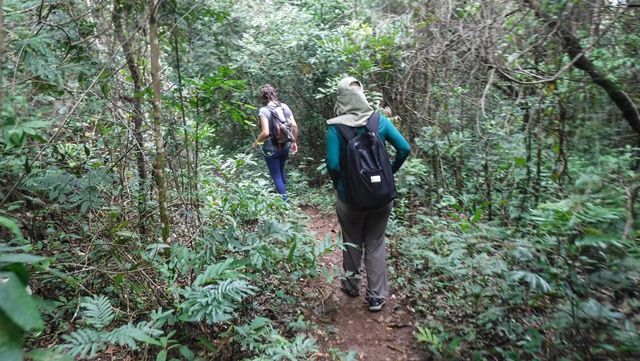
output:
<path id="1" fill-rule="evenodd" d="M 0 249 L 2 261 L 33 264 L 29 283 L 46 327 L 36 325 L 27 340 L 31 358 L 299 360 L 317 351 L 296 300 L 326 248 L 316 246 L 304 215 L 272 191 L 261 159 L 216 151 L 205 161 L 202 202 L 176 208 L 166 243 L 107 204 L 118 189 L 101 187 L 86 209 L 41 209 L 43 239 L 16 232 Z M 56 193 L 32 185 L 46 203 L 86 189 L 82 182 L 71 177 Z M 57 222 L 56 213 L 78 221 Z M 15 256 L 17 244 L 39 256 Z"/>

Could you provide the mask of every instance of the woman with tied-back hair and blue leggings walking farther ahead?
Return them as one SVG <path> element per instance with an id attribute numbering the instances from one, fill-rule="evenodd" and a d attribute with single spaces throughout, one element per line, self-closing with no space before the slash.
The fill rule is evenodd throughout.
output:
<path id="1" fill-rule="evenodd" d="M 296 143 L 298 125 L 291 109 L 278 100 L 276 90 L 271 85 L 263 85 L 260 88 L 260 96 L 262 98 L 262 107 L 258 112 L 260 134 L 253 142 L 253 147 L 257 148 L 262 144 L 262 153 L 276 191 L 285 201 L 289 201 L 284 166 L 289 158 L 289 152 L 295 154 L 298 151 Z"/>

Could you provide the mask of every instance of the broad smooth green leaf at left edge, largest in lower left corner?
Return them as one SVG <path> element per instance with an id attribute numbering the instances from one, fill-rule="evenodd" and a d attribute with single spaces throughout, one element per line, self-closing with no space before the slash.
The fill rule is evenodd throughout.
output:
<path id="1" fill-rule="evenodd" d="M 0 309 L 25 331 L 44 328 L 35 301 L 13 272 L 0 272 Z"/>

